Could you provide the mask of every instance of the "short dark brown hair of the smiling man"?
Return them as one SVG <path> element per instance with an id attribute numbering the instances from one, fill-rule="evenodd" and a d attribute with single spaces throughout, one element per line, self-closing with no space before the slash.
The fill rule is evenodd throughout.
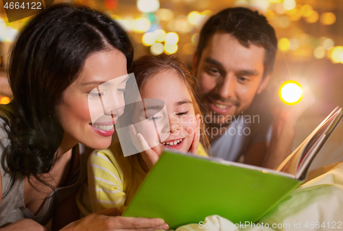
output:
<path id="1" fill-rule="evenodd" d="M 202 27 L 198 43 L 198 62 L 211 36 L 216 32 L 225 32 L 234 36 L 244 47 L 250 43 L 265 49 L 263 77 L 272 72 L 277 39 L 274 28 L 265 16 L 247 8 L 227 8 L 211 16 Z"/>

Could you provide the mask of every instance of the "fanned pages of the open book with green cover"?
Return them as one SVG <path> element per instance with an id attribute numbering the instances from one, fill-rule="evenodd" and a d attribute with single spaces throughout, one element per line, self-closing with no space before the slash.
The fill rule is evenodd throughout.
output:
<path id="1" fill-rule="evenodd" d="M 276 171 L 292 175 L 303 175 L 304 171 L 308 169 L 311 161 L 314 159 L 314 156 L 316 156 L 324 142 L 327 141 L 329 135 L 340 122 L 340 119 L 342 119 L 341 117 L 342 108 L 335 108 L 335 110 L 316 127 L 314 132 L 311 132 L 305 141 L 303 141 L 303 143 L 301 143 L 292 154 L 279 165 Z M 299 173 L 299 171 L 302 171 L 302 173 Z"/>

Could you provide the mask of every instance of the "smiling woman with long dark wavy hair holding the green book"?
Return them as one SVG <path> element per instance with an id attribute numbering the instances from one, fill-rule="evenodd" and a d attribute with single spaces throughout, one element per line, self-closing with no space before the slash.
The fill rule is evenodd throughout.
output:
<path id="1" fill-rule="evenodd" d="M 83 145 L 110 145 L 126 82 L 103 121 L 91 118 L 91 92 L 99 91 L 91 99 L 108 94 L 99 85 L 127 75 L 132 57 L 126 32 L 87 8 L 55 5 L 23 29 L 10 55 L 13 99 L 0 108 L 0 230 L 45 230 L 51 218 L 54 230 L 167 229 L 161 219 L 113 217 L 115 209 L 75 221 L 75 195 L 86 180 Z"/>

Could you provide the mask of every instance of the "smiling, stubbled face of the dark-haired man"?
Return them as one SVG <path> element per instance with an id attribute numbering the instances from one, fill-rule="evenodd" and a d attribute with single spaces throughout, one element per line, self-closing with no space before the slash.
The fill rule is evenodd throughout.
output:
<path id="1" fill-rule="evenodd" d="M 217 32 L 202 51 L 193 72 L 200 84 L 200 99 L 208 109 L 211 126 L 228 125 L 233 116 L 246 110 L 255 95 L 262 92 L 269 76 L 263 75 L 265 49 L 244 47 L 227 33 Z"/>

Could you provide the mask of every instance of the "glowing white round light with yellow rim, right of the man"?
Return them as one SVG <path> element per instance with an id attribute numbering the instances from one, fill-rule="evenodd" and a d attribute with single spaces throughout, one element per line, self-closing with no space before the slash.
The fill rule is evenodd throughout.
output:
<path id="1" fill-rule="evenodd" d="M 283 104 L 294 105 L 303 99 L 303 87 L 294 80 L 288 80 L 281 84 L 279 88 L 279 97 Z"/>

